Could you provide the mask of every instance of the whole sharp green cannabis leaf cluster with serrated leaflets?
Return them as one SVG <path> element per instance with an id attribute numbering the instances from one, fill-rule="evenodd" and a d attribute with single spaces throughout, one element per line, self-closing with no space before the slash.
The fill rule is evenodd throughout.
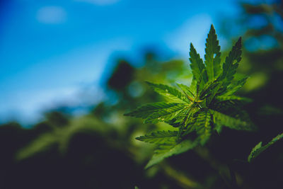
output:
<path id="1" fill-rule="evenodd" d="M 213 132 L 221 132 L 223 126 L 234 130 L 255 130 L 247 113 L 241 110 L 241 105 L 250 100 L 234 95 L 247 79 L 235 76 L 241 61 L 241 38 L 223 63 L 213 25 L 205 45 L 203 62 L 195 47 L 190 44 L 190 68 L 193 74 L 190 86 L 177 84 L 178 89 L 147 82 L 168 101 L 141 105 L 125 114 L 143 118 L 144 123 L 166 122 L 178 127 L 178 131 L 151 132 L 137 137 L 140 141 L 157 145 L 146 168 L 158 164 L 168 156 L 206 144 Z"/>

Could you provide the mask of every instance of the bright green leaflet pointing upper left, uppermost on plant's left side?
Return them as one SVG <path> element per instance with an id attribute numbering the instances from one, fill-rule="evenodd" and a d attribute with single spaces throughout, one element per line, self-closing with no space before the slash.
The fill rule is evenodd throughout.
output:
<path id="1" fill-rule="evenodd" d="M 146 81 L 146 83 L 149 84 L 149 86 L 151 86 L 152 88 L 154 88 L 154 91 L 156 91 L 156 93 L 159 93 L 162 96 L 171 99 L 175 103 L 189 103 L 185 95 L 183 95 L 183 93 L 178 91 L 176 88 L 163 84 L 153 84 L 149 81 Z"/>

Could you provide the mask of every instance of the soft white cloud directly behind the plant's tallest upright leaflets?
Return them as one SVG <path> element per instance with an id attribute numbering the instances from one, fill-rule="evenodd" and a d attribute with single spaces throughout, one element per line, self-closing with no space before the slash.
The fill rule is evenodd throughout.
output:
<path id="1" fill-rule="evenodd" d="M 166 36 L 166 43 L 175 52 L 182 57 L 188 57 L 190 42 L 204 56 L 205 39 L 209 32 L 212 18 L 207 14 L 199 14 L 187 20 L 175 32 Z"/>

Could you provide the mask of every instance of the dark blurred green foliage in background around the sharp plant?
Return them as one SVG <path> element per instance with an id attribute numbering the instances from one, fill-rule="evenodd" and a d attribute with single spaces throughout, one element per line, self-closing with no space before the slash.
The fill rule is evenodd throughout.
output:
<path id="1" fill-rule="evenodd" d="M 54 111 L 30 129 L 16 122 L 1 125 L 0 188 L 228 188 L 227 179 L 233 178 L 229 168 L 239 188 L 278 188 L 282 141 L 251 164 L 246 159 L 259 141 L 267 144 L 282 133 L 282 25 L 277 24 L 282 23 L 282 1 L 241 6 L 238 25 L 246 50 L 238 71 L 249 74 L 250 79 L 239 93 L 254 99 L 244 108 L 258 132 L 224 128 L 206 147 L 144 170 L 153 147 L 134 137 L 170 126 L 161 122 L 144 125 L 123 114 L 144 103 L 163 101 L 144 81 L 187 84 L 192 79 L 188 61 L 161 62 L 148 52 L 142 67 L 134 67 L 127 59 L 117 61 L 105 86 L 108 101 L 86 115 L 73 117 Z"/>

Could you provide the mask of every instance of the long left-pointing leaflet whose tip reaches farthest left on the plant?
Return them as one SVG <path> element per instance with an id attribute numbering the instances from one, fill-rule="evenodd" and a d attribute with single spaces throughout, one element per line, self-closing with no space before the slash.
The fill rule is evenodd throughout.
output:
<path id="1" fill-rule="evenodd" d="M 158 103 L 148 103 L 146 105 L 141 105 L 137 109 L 133 110 L 130 113 L 126 113 L 127 116 L 132 116 L 135 118 L 143 118 L 146 119 L 149 115 L 158 112 L 159 110 L 173 108 L 175 106 L 183 107 L 183 104 L 180 103 L 165 103 L 165 102 L 158 102 Z"/>

